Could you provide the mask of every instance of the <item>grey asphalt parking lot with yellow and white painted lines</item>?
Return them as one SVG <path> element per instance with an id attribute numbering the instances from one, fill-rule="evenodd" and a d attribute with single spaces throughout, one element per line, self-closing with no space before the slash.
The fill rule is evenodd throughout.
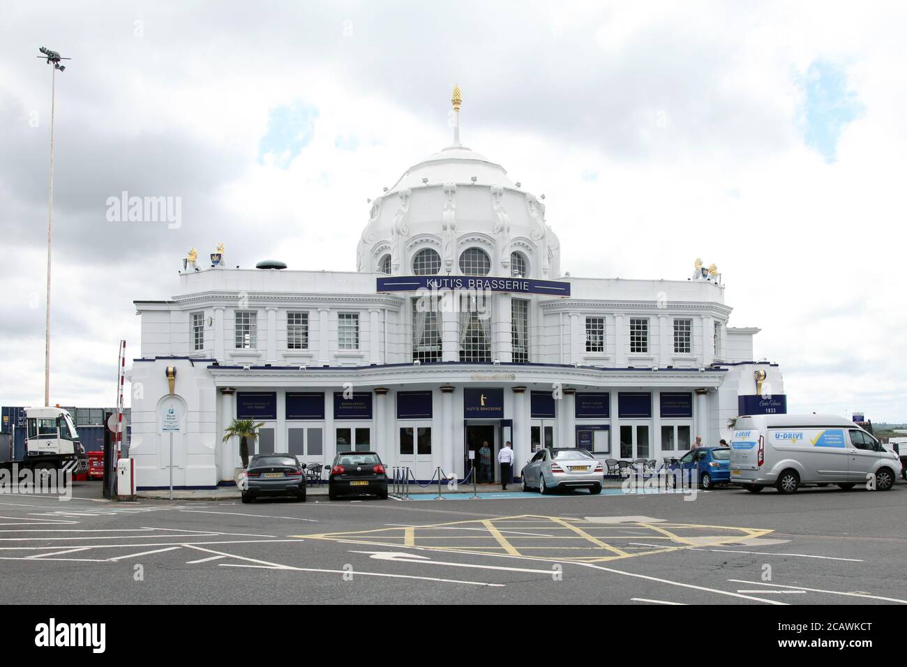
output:
<path id="1" fill-rule="evenodd" d="M 907 603 L 907 485 L 449 501 L 0 495 L 3 603 Z"/>

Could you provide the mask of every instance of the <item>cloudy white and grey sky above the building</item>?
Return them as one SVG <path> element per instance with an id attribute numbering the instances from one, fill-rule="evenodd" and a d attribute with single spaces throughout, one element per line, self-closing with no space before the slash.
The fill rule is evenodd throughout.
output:
<path id="1" fill-rule="evenodd" d="M 450 143 L 544 193 L 573 276 L 715 262 L 791 412 L 907 421 L 907 5 L 8 2 L 0 21 L 0 405 L 109 406 L 133 299 L 190 247 L 355 270 L 368 198 Z M 109 198 L 180 201 L 179 224 Z M 171 200 L 176 201 L 176 200 Z M 113 219 L 112 219 L 113 218 Z"/>

